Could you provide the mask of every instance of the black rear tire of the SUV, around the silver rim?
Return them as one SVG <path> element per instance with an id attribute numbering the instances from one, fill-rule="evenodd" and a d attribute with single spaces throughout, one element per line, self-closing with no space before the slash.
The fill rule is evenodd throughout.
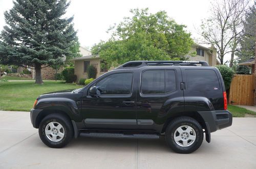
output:
<path id="1" fill-rule="evenodd" d="M 181 126 L 190 126 L 192 129 L 194 129 L 194 130 L 190 130 L 191 132 L 189 132 L 189 133 L 191 133 L 192 136 L 193 136 L 193 134 L 194 134 L 194 136 L 196 136 L 196 138 L 194 138 L 195 140 L 189 139 L 190 134 L 188 136 L 187 133 L 185 133 L 185 136 L 187 136 L 187 137 L 182 140 L 179 140 L 178 143 L 176 143 L 174 137 L 178 136 L 179 138 L 181 138 L 181 133 L 179 133 L 179 131 L 178 131 L 178 129 L 180 129 Z M 185 131 L 187 128 L 181 127 L 181 129 L 183 129 L 183 131 Z M 188 154 L 188 153 L 196 151 L 201 146 L 201 144 L 203 142 L 203 137 L 204 137 L 204 134 L 203 134 L 203 129 L 202 129 L 201 125 L 195 119 L 190 118 L 190 117 L 178 117 L 178 118 L 170 121 L 165 130 L 165 140 L 166 140 L 167 145 L 175 152 L 182 153 L 182 154 Z M 187 140 L 185 140 L 185 139 L 187 139 Z M 183 140 L 187 144 L 190 143 L 190 145 L 187 147 L 186 146 L 183 147 L 184 146 Z"/>

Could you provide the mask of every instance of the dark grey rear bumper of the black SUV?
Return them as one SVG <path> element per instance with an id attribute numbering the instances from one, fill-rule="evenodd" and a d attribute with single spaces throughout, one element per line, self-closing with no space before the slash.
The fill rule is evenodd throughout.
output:
<path id="1" fill-rule="evenodd" d="M 199 114 L 208 125 L 209 132 L 215 132 L 232 125 L 232 114 L 228 110 L 199 111 Z"/>

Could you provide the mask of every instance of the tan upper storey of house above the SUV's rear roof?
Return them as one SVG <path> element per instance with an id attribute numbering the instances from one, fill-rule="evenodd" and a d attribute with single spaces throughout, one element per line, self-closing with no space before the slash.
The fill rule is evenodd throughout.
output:
<path id="1" fill-rule="evenodd" d="M 217 51 L 214 47 L 204 47 L 199 44 L 194 44 L 189 53 L 196 52 L 195 57 L 187 55 L 189 61 L 206 61 L 210 66 L 220 65 L 217 60 Z"/>

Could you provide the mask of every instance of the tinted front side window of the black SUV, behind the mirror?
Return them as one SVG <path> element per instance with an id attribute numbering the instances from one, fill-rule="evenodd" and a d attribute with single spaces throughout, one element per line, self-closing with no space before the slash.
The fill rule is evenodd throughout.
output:
<path id="1" fill-rule="evenodd" d="M 97 94 L 126 95 L 132 93 L 133 73 L 116 73 L 96 83 Z"/>

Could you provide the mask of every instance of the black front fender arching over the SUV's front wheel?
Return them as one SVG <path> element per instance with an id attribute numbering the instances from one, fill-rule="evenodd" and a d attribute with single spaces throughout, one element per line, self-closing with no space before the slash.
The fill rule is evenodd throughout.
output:
<path id="1" fill-rule="evenodd" d="M 44 113 L 47 110 L 59 110 L 63 111 L 70 117 L 70 119 L 75 122 L 80 122 L 82 117 L 78 109 L 77 104 L 74 100 L 69 98 L 41 98 L 38 100 L 35 109 L 42 109 L 40 114 Z"/>

